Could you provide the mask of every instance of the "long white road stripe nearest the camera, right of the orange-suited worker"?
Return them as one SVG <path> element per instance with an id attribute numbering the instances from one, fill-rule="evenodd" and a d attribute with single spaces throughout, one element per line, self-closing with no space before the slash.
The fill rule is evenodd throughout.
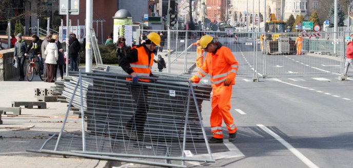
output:
<path id="1" fill-rule="evenodd" d="M 294 154 L 295 156 L 297 156 L 297 158 L 299 158 L 304 164 L 306 164 L 308 167 L 310 168 L 319 168 L 319 166 L 317 166 L 316 164 L 314 164 L 313 162 L 311 162 L 307 157 L 305 157 L 302 153 L 300 153 L 296 148 L 294 148 L 292 145 L 290 145 L 288 142 L 286 142 L 284 139 L 282 139 L 279 135 L 277 135 L 276 133 L 273 133 L 272 130 L 268 129 L 266 126 L 262 125 L 262 124 L 257 124 L 257 126 L 259 126 L 262 130 L 264 130 L 267 134 L 271 135 L 274 139 L 276 139 L 277 141 L 279 141 L 280 143 L 282 143 L 285 147 L 288 148 L 288 150 Z"/>

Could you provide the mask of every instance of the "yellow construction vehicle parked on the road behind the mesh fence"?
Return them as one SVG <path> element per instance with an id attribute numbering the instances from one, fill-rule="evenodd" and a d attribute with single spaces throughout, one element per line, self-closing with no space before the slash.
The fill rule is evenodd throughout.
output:
<path id="1" fill-rule="evenodd" d="M 284 21 L 278 21 L 273 13 L 269 16 L 269 21 L 265 22 L 265 34 L 260 35 L 261 51 L 267 54 L 290 53 L 290 39 L 283 35 L 286 28 Z"/>

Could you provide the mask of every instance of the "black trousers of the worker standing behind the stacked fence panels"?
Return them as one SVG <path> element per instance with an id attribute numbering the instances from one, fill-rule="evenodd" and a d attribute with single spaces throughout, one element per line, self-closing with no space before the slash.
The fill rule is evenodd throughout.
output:
<path id="1" fill-rule="evenodd" d="M 136 133 L 141 136 L 143 135 L 145 122 L 147 119 L 148 103 L 147 94 L 148 86 L 141 84 L 127 84 L 127 88 L 131 93 L 132 99 L 137 104 L 134 115 L 127 122 L 127 129 L 136 129 Z"/>

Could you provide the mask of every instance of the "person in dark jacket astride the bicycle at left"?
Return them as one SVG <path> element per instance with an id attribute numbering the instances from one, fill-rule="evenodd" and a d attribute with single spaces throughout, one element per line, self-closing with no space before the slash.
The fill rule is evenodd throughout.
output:
<path id="1" fill-rule="evenodd" d="M 32 35 L 32 43 L 28 45 L 27 48 L 27 55 L 29 58 L 29 61 L 31 62 L 34 57 L 38 58 L 38 64 L 43 65 L 43 58 L 42 58 L 42 40 L 39 39 L 39 37 L 35 34 Z M 40 73 L 43 74 L 43 67 L 40 66 Z"/>

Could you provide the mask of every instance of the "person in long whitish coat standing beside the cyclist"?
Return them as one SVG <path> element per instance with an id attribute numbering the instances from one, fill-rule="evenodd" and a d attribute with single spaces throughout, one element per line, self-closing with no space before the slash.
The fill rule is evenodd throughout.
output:
<path id="1" fill-rule="evenodd" d="M 56 70 L 55 65 L 58 59 L 58 50 L 55 44 L 55 39 L 49 40 L 49 44 L 47 45 L 44 51 L 44 54 L 46 55 L 45 63 L 47 64 L 46 73 L 47 73 L 48 82 L 54 82 L 54 76 L 55 76 L 55 70 Z"/>

